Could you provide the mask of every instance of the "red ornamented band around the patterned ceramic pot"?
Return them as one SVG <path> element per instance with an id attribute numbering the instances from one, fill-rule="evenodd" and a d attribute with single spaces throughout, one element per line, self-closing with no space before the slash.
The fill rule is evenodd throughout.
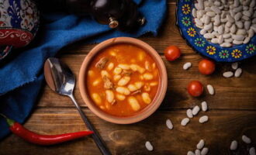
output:
<path id="1" fill-rule="evenodd" d="M 0 29 L 0 46 L 25 47 L 32 39 L 32 33 L 21 29 Z"/>

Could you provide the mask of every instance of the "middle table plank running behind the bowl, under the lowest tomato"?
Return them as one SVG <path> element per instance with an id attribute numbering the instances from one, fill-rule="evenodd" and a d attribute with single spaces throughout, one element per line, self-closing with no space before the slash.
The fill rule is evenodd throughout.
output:
<path id="1" fill-rule="evenodd" d="M 64 55 L 61 57 L 66 64 L 71 67 L 71 70 L 77 77 L 82 61 L 86 55 Z M 252 60 L 240 64 L 243 68 L 241 77 L 224 78 L 222 73 L 231 70 L 230 64 L 218 64 L 215 74 L 205 76 L 199 74 L 198 62 L 202 59 L 198 54 L 185 54 L 181 59 L 175 62 L 168 62 L 162 57 L 168 71 L 168 91 L 161 108 L 189 108 L 192 105 L 198 104 L 203 100 L 209 102 L 209 107 L 214 109 L 250 109 L 256 110 L 256 76 L 255 69 L 256 57 Z M 185 62 L 192 62 L 192 68 L 189 71 L 184 71 L 182 65 Z M 216 90 L 216 95 L 209 95 L 205 90 L 205 94 L 200 98 L 191 97 L 186 86 L 189 81 L 199 80 L 202 84 L 213 84 Z M 75 97 L 81 106 L 85 106 L 81 99 L 78 84 L 76 85 Z M 46 87 L 43 90 L 43 95 L 40 98 L 40 107 L 73 107 L 71 100 L 67 97 L 57 95 L 50 88 Z"/>

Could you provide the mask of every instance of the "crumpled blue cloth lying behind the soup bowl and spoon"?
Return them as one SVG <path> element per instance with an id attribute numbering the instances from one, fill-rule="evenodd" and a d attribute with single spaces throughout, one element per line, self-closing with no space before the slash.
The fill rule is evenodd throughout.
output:
<path id="1" fill-rule="evenodd" d="M 84 40 L 99 43 L 117 36 L 141 36 L 151 32 L 157 35 L 166 12 L 165 0 L 135 0 L 140 12 L 147 19 L 146 25 L 136 33 L 122 33 L 108 26 L 100 25 L 91 18 L 81 18 L 63 13 L 44 14 L 44 24 L 35 40 L 24 51 L 0 67 L 0 112 L 17 122 L 25 122 L 36 103 L 36 97 L 43 83 L 43 63 L 47 57 L 54 57 L 58 50 Z M 54 92 L 53 92 L 54 93 Z M 0 140 L 9 133 L 3 118 L 0 118 Z"/>

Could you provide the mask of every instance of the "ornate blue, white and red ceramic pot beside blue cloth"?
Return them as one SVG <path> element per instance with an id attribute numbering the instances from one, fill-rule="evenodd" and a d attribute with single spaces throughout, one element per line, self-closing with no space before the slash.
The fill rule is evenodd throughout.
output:
<path id="1" fill-rule="evenodd" d="M 39 18 L 33 0 L 0 0 L 0 61 L 12 47 L 25 47 L 33 40 Z"/>

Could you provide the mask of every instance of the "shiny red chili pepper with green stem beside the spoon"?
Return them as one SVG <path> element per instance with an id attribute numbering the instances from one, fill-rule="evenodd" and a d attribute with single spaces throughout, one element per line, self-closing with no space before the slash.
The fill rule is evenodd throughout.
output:
<path id="1" fill-rule="evenodd" d="M 24 128 L 21 124 L 19 124 L 19 122 L 15 122 L 14 120 L 7 118 L 5 115 L 2 116 L 6 119 L 6 122 L 8 123 L 9 129 L 12 131 L 12 133 L 21 137 L 23 140 L 28 141 L 29 143 L 35 143 L 38 145 L 47 146 L 63 143 L 69 140 L 81 138 L 83 136 L 88 136 L 93 133 L 92 131 L 81 131 L 77 133 L 64 133 L 60 135 L 40 135 Z"/>

